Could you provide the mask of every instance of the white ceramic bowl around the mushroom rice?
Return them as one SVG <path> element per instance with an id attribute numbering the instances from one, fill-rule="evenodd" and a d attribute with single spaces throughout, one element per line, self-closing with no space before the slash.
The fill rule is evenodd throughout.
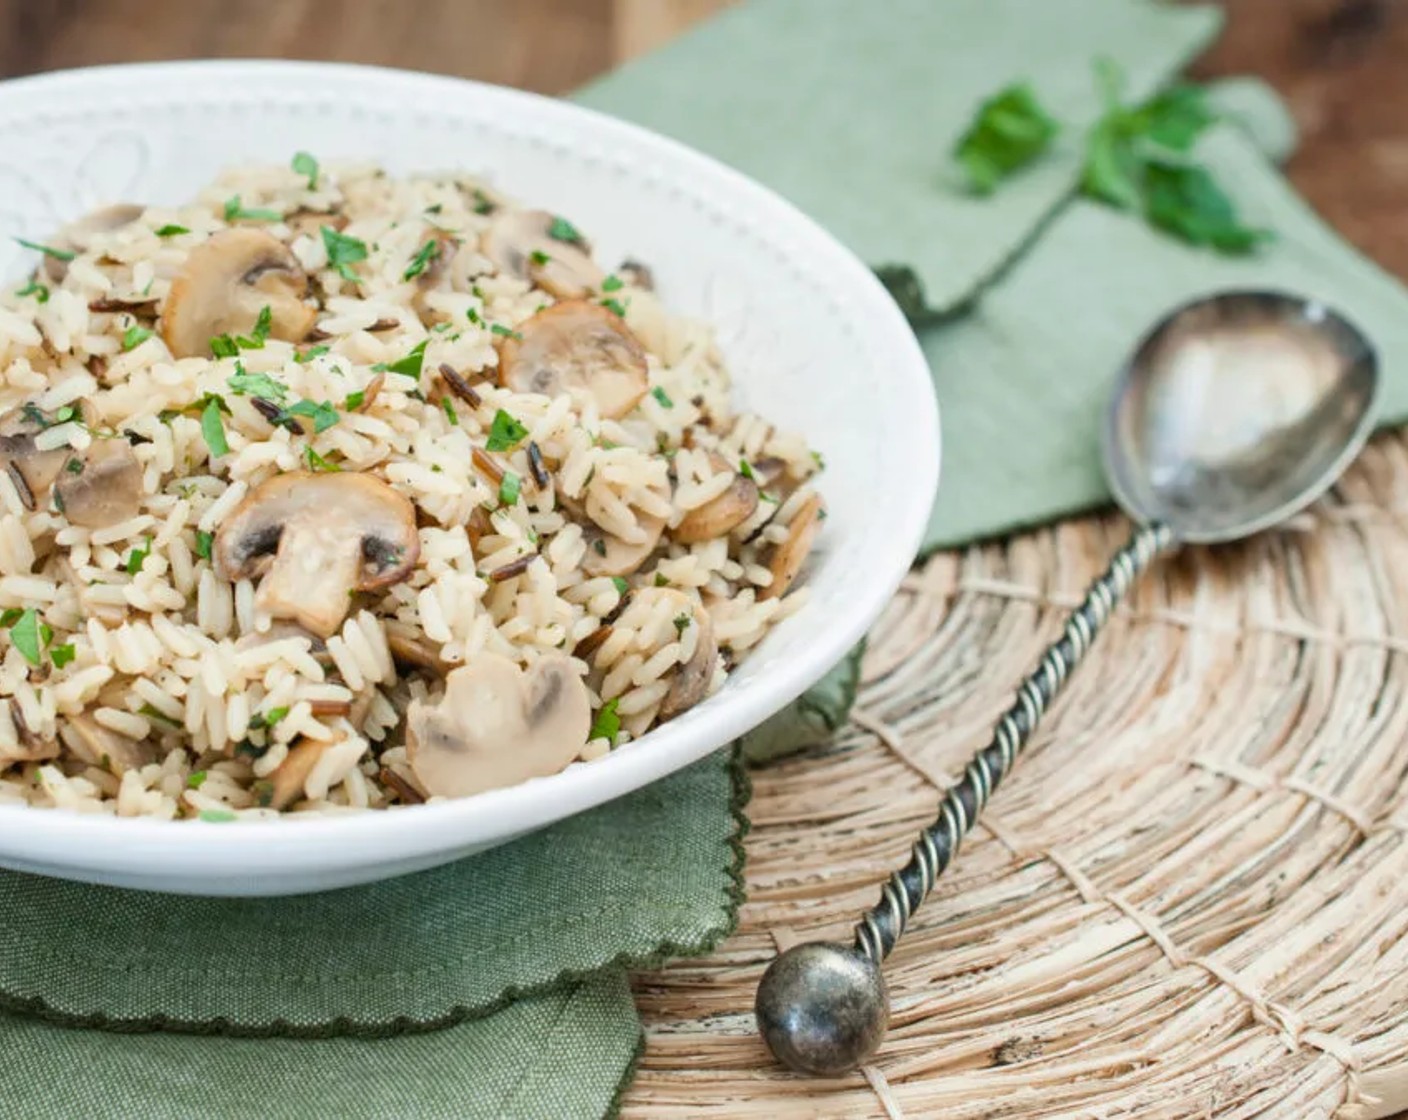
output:
<path id="1" fill-rule="evenodd" d="M 200 895 L 383 879 L 501 844 L 714 751 L 793 700 L 903 578 L 938 485 L 938 406 L 914 335 L 870 270 L 772 192 L 610 117 L 493 86 L 359 66 L 194 62 L 0 85 L 0 276 L 111 201 L 179 203 L 221 168 L 366 158 L 483 173 L 570 216 L 601 261 L 650 263 L 665 300 L 711 320 L 736 392 L 826 458 L 811 603 L 727 686 L 610 757 L 431 806 L 249 824 L 0 809 L 0 865 Z M 863 206 L 865 200 L 856 200 Z"/>

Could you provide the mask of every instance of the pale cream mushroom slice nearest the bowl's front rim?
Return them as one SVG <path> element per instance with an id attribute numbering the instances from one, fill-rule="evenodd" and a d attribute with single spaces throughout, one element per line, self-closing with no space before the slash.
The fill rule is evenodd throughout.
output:
<path id="1" fill-rule="evenodd" d="M 591 697 L 569 658 L 528 672 L 482 652 L 445 679 L 439 703 L 413 700 L 406 752 L 427 793 L 467 797 L 573 762 L 591 733 Z"/>

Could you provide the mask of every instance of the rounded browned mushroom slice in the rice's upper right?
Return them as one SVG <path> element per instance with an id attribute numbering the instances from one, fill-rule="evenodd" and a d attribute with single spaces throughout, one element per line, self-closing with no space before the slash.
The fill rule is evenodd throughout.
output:
<path id="1" fill-rule="evenodd" d="M 558 396 L 582 389 L 601 416 L 631 411 L 650 387 L 645 351 L 612 311 L 587 300 L 545 307 L 498 348 L 498 383 L 515 393 Z"/>

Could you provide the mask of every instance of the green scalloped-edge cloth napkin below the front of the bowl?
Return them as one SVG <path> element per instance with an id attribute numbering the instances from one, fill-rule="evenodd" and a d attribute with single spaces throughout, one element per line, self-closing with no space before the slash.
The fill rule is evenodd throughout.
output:
<path id="1" fill-rule="evenodd" d="M 622 966 L 734 928 L 746 796 L 719 752 L 476 858 L 289 899 L 0 872 L 0 1114 L 600 1117 L 642 1041 Z"/>

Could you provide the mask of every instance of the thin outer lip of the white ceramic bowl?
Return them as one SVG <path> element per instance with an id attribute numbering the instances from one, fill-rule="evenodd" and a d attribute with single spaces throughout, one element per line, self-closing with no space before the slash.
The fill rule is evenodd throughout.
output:
<path id="1" fill-rule="evenodd" d="M 332 889 L 434 866 L 458 854 L 491 847 L 653 782 L 731 742 L 815 683 L 860 640 L 919 547 L 939 476 L 939 414 L 928 365 L 894 301 L 849 249 L 772 190 L 676 141 L 593 110 L 532 93 L 406 70 L 342 63 L 221 61 L 142 63 L 56 72 L 0 83 L 0 118 L 24 110 L 45 117 L 58 96 L 90 100 L 115 87 L 156 87 L 176 99 L 187 87 L 280 89 L 279 79 L 352 82 L 384 90 L 406 114 L 413 104 L 479 103 L 570 130 L 577 142 L 648 149 L 662 165 L 687 172 L 765 214 L 790 244 L 825 258 L 863 318 L 867 335 L 884 340 L 887 379 L 898 379 L 914 407 L 893 417 L 874 440 L 903 441 L 907 475 L 883 527 L 884 556 L 867 568 L 845 613 L 817 627 L 815 640 L 765 686 L 711 697 L 707 714 L 667 724 L 636 744 L 551 778 L 463 800 L 394 811 L 349 813 L 235 826 L 115 819 L 62 809 L 0 806 L 0 865 L 89 882 L 204 895 L 280 895 Z M 283 86 L 296 86 L 290 80 Z M 290 93 L 279 97 L 287 100 Z M 384 158 L 372 151 L 369 158 Z M 798 616 L 798 618 L 804 617 Z M 788 620 L 790 626 L 798 618 Z"/>

